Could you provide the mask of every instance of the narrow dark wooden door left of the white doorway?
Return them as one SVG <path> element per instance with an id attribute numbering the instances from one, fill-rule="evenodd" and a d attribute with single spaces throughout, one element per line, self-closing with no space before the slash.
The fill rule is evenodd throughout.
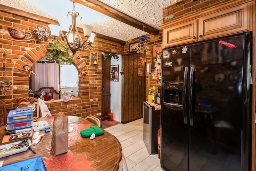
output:
<path id="1" fill-rule="evenodd" d="M 103 59 L 102 55 L 102 95 L 101 95 L 101 120 L 108 119 L 110 110 L 110 59 Z"/>

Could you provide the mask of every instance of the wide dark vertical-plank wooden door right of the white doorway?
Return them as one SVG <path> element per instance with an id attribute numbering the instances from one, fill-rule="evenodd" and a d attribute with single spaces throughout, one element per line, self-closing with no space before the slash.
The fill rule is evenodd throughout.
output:
<path id="1" fill-rule="evenodd" d="M 140 54 L 145 58 L 145 54 Z M 122 123 L 128 123 L 143 117 L 143 101 L 145 101 L 145 62 L 139 54 L 122 57 L 124 74 L 122 75 Z M 142 68 L 142 76 L 138 70 Z"/>

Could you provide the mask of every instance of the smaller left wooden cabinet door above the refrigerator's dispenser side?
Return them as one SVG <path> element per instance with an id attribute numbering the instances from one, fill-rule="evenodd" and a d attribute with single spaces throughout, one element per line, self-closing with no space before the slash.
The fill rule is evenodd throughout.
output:
<path id="1" fill-rule="evenodd" d="M 196 20 L 192 20 L 163 30 L 163 47 L 197 41 Z"/>

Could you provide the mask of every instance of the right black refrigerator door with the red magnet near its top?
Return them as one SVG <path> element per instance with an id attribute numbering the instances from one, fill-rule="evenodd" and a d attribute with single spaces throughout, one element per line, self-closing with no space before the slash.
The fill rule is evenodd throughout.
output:
<path id="1" fill-rule="evenodd" d="M 244 44 L 242 35 L 190 46 L 195 95 L 189 171 L 241 171 Z"/>

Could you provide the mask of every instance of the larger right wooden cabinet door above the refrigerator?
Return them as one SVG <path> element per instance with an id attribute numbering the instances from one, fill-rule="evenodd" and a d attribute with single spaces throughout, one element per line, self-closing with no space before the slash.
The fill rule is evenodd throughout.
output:
<path id="1" fill-rule="evenodd" d="M 249 31 L 248 4 L 198 18 L 199 40 Z"/>

